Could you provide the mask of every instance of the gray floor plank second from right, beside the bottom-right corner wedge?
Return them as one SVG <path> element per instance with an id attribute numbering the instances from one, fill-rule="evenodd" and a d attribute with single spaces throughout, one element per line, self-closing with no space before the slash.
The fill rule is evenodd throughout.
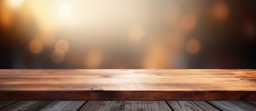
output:
<path id="1" fill-rule="evenodd" d="M 208 101 L 222 111 L 256 111 L 256 108 L 241 101 Z"/>

